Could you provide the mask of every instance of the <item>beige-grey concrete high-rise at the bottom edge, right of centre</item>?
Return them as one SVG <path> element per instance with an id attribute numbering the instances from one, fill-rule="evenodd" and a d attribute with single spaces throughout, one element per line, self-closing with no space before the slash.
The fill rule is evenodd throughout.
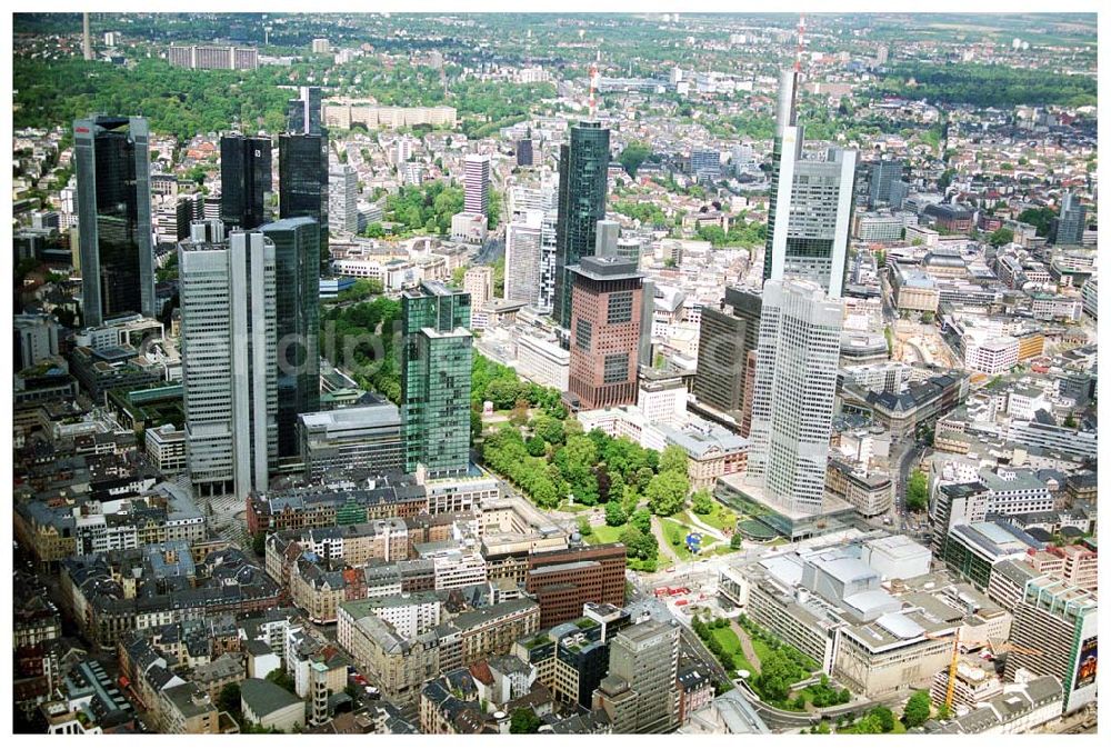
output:
<path id="1" fill-rule="evenodd" d="M 610 672 L 594 690 L 614 733 L 669 733 L 679 726 L 679 628 L 645 621 L 610 641 Z"/>

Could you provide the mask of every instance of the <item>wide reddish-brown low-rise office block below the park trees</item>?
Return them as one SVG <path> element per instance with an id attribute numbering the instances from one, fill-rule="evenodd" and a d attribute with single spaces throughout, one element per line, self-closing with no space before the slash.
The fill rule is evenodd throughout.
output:
<path id="1" fill-rule="evenodd" d="M 540 627 L 571 621 L 584 603 L 624 606 L 623 543 L 574 546 L 529 555 L 524 589 L 540 605 Z"/>

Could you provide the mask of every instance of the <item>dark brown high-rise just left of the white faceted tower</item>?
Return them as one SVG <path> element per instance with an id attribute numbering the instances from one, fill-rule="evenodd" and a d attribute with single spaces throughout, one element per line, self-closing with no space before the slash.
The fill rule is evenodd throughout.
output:
<path id="1" fill-rule="evenodd" d="M 729 287 L 719 309 L 702 308 L 698 369 L 691 392 L 699 403 L 741 420 L 744 363 L 760 339 L 760 294 Z"/>

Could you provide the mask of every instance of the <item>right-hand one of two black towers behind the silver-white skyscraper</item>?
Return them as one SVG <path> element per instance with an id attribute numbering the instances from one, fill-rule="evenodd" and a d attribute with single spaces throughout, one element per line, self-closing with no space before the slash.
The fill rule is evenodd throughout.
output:
<path id="1" fill-rule="evenodd" d="M 328 249 L 328 132 L 278 137 L 279 217 L 317 221 L 320 253 Z"/>

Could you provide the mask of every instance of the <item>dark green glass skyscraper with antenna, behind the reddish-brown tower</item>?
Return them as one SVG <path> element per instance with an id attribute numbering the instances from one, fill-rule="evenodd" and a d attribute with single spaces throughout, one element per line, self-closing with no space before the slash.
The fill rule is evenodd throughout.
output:
<path id="1" fill-rule="evenodd" d="M 571 142 L 560 147 L 559 217 L 556 221 L 556 298 L 552 316 L 571 324 L 568 266 L 594 253 L 598 222 L 605 218 L 605 181 L 610 168 L 610 131 L 600 122 L 579 122 Z"/>

